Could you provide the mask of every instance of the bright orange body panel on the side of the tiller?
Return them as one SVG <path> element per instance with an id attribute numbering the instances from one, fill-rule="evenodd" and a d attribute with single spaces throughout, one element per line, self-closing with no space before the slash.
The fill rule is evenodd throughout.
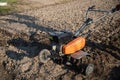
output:
<path id="1" fill-rule="evenodd" d="M 63 53 L 64 54 L 72 54 L 76 51 L 82 49 L 85 46 L 85 38 L 78 37 L 73 41 L 69 42 L 65 46 L 63 46 Z"/>

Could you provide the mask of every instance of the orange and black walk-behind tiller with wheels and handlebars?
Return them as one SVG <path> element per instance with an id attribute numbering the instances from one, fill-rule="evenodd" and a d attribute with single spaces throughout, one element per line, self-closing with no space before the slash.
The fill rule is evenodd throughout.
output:
<path id="1" fill-rule="evenodd" d="M 62 56 L 70 56 L 73 59 L 81 59 L 89 55 L 87 52 L 82 51 L 81 49 L 85 46 L 85 37 L 81 35 L 83 30 L 88 27 L 91 23 L 95 23 L 106 16 L 119 11 L 120 4 L 117 5 L 115 8 L 111 9 L 110 11 L 106 10 L 96 10 L 95 6 L 89 7 L 86 12 L 86 20 L 82 24 L 82 26 L 75 32 L 68 32 L 68 31 L 55 31 L 49 33 L 49 38 L 51 41 L 51 50 L 43 49 L 39 53 L 39 60 L 42 63 L 46 63 L 49 59 L 57 59 Z M 103 12 L 106 13 L 102 17 L 93 20 L 88 17 L 89 12 Z M 86 67 L 86 74 L 90 74 L 93 72 L 94 65 L 89 64 Z"/>

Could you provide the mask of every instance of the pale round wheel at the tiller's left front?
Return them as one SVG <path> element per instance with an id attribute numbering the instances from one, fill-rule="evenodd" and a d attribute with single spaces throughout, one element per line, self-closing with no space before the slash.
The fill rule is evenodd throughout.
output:
<path id="1" fill-rule="evenodd" d="M 39 61 L 42 63 L 47 63 L 48 60 L 50 60 L 50 55 L 51 55 L 51 53 L 49 50 L 47 50 L 47 49 L 41 50 L 39 53 L 39 56 L 38 56 Z"/>

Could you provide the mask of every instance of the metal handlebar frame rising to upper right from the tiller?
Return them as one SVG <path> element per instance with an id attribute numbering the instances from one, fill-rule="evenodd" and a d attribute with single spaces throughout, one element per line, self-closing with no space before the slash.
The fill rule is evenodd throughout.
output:
<path id="1" fill-rule="evenodd" d="M 111 13 L 114 13 L 116 11 L 120 10 L 120 4 L 118 4 L 115 8 L 113 8 L 110 11 L 107 10 L 96 10 L 95 6 L 91 6 L 88 8 L 88 10 L 86 11 L 86 20 L 84 21 L 84 23 L 81 25 L 81 27 L 75 32 L 74 37 L 78 37 L 80 35 L 80 33 L 91 23 L 95 23 L 103 18 L 105 18 L 106 16 L 110 15 Z M 93 11 L 93 12 L 103 12 L 106 13 L 105 15 L 98 17 L 97 19 L 93 20 L 91 18 L 88 17 L 88 13 L 89 11 Z"/>

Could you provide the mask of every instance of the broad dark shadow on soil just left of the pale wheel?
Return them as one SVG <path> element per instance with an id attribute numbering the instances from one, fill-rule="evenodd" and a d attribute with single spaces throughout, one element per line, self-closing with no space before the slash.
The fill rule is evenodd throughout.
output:
<path id="1" fill-rule="evenodd" d="M 39 43 L 39 42 L 28 42 L 22 38 L 16 38 L 7 41 L 8 45 L 12 45 L 17 48 L 17 51 L 8 50 L 6 55 L 14 60 L 21 60 L 24 57 L 33 58 L 39 54 L 41 49 L 47 48 L 50 49 L 48 44 Z M 22 52 L 19 52 L 21 50 Z"/>

